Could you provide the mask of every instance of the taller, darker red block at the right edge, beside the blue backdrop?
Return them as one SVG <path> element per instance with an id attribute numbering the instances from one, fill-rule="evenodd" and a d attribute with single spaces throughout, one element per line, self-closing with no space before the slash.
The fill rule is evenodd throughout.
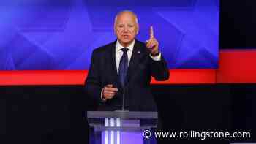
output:
<path id="1" fill-rule="evenodd" d="M 217 83 L 256 83 L 256 50 L 222 50 Z"/>

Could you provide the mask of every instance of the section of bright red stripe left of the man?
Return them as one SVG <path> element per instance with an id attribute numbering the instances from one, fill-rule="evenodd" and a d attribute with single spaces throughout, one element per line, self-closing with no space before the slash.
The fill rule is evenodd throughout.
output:
<path id="1" fill-rule="evenodd" d="M 76 70 L 1 71 L 0 85 L 81 85 L 86 75 Z"/>

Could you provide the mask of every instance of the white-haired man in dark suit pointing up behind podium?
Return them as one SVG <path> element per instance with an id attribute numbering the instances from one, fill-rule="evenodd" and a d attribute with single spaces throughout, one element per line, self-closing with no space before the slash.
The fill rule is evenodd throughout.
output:
<path id="1" fill-rule="evenodd" d="M 151 94 L 151 76 L 167 80 L 169 70 L 153 27 L 146 43 L 135 39 L 138 18 L 131 11 L 116 15 L 117 40 L 97 48 L 91 56 L 86 91 L 98 102 L 98 110 L 157 111 Z"/>

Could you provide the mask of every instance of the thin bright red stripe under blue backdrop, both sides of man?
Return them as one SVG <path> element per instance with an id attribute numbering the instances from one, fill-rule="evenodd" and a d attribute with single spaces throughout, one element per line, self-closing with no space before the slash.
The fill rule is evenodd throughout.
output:
<path id="1" fill-rule="evenodd" d="M 87 76 L 84 71 L 1 71 L 0 86 L 12 85 L 83 85 Z M 214 69 L 175 69 L 170 70 L 169 80 L 153 84 L 170 83 L 214 83 Z"/>

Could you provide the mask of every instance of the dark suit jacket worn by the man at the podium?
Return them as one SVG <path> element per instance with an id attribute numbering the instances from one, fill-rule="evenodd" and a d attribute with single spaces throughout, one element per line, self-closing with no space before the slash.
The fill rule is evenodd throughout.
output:
<path id="1" fill-rule="evenodd" d="M 151 76 L 156 80 L 167 80 L 169 70 L 163 57 L 161 61 L 154 61 L 149 54 L 145 43 L 135 40 L 127 72 L 125 110 L 157 111 L 150 89 Z M 116 42 L 95 49 L 91 56 L 86 92 L 97 100 L 98 110 L 121 110 L 124 89 L 118 80 L 115 56 Z M 103 102 L 100 97 L 101 91 L 107 84 L 113 84 L 118 88 L 118 93 L 113 99 Z"/>

